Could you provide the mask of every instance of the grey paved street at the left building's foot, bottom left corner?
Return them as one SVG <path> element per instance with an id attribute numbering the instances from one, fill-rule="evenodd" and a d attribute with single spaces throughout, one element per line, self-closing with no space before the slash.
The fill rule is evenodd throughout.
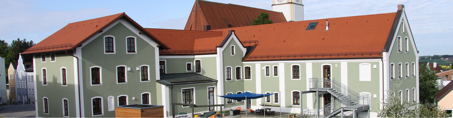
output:
<path id="1" fill-rule="evenodd" d="M 0 106 L 0 116 L 5 118 L 35 118 L 35 108 L 33 104 L 2 105 Z"/>

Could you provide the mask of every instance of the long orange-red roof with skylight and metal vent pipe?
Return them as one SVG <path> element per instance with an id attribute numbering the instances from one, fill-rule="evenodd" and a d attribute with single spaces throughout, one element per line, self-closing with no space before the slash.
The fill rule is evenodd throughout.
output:
<path id="1" fill-rule="evenodd" d="M 245 60 L 376 58 L 389 36 L 396 13 L 305 20 L 267 25 L 217 29 L 228 30 L 242 42 L 258 40 Z M 329 29 L 326 29 L 326 20 Z M 318 22 L 313 30 L 309 23 Z"/>

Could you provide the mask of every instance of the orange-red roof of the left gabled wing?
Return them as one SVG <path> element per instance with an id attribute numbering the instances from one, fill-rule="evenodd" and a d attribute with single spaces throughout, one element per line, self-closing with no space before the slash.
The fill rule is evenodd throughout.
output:
<path id="1" fill-rule="evenodd" d="M 22 54 L 36 54 L 55 51 L 65 51 L 75 49 L 79 44 L 82 44 L 93 35 L 100 32 L 102 29 L 112 24 L 114 21 L 125 17 L 136 28 L 143 29 L 134 20 L 130 19 L 124 12 L 115 15 L 108 15 L 91 20 L 83 20 L 79 22 L 69 23 L 62 29 L 53 33 L 46 39 L 43 39 L 38 44 L 35 44 L 30 49 L 25 50 Z M 154 39 L 154 38 L 151 38 Z M 155 40 L 158 44 L 159 40 Z M 162 45 L 165 49 L 165 45 Z"/>

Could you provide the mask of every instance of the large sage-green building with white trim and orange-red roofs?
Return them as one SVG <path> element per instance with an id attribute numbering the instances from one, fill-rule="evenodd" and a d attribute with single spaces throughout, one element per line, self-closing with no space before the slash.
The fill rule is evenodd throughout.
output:
<path id="1" fill-rule="evenodd" d="M 70 23 L 23 54 L 34 55 L 37 117 L 114 117 L 115 106 L 137 103 L 164 105 L 166 117 L 191 115 L 171 103 L 376 117 L 386 95 L 419 101 L 418 50 L 404 5 L 204 31 L 143 28 L 120 13 Z M 400 82 L 398 93 L 386 92 Z M 244 92 L 277 94 L 217 97 Z M 220 107 L 194 108 L 210 110 Z"/>

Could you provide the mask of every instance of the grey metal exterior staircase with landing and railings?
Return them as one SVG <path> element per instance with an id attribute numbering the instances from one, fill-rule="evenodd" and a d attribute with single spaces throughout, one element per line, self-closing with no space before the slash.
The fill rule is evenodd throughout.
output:
<path id="1" fill-rule="evenodd" d="M 318 95 L 330 93 L 335 99 L 322 108 L 317 110 L 317 117 L 323 118 L 343 118 L 349 117 L 345 113 L 351 113 L 352 117 L 357 117 L 358 112 L 366 111 L 370 109 L 370 94 L 359 94 L 341 82 L 332 79 L 310 79 L 309 91 L 303 93 L 314 93 Z M 319 104 L 319 100 L 317 100 Z M 323 114 L 321 116 L 321 114 Z"/>

